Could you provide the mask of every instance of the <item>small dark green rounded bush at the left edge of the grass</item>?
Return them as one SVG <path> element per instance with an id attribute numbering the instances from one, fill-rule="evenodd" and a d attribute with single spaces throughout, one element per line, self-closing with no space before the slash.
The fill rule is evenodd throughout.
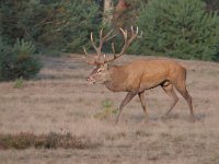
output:
<path id="1" fill-rule="evenodd" d="M 0 43 L 0 81 L 31 79 L 39 72 L 42 63 L 32 43 L 24 39 L 16 39 L 13 46 Z"/>

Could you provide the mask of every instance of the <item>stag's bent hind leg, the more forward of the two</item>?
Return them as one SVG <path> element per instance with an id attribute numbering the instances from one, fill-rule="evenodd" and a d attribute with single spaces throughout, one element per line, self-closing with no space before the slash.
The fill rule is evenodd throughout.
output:
<path id="1" fill-rule="evenodd" d="M 173 109 L 173 107 L 175 106 L 175 104 L 178 102 L 178 97 L 177 97 L 177 95 L 174 92 L 172 83 L 165 83 L 165 84 L 163 84 L 161 86 L 164 90 L 164 92 L 168 94 L 168 96 L 172 98 L 172 103 L 170 105 L 170 108 L 165 113 L 165 116 L 169 116 L 169 114 L 171 113 L 171 110 Z"/>

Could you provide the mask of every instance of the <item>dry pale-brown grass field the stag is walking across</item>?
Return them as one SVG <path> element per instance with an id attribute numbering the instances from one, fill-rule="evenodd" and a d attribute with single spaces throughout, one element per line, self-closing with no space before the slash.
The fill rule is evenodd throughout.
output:
<path id="1" fill-rule="evenodd" d="M 123 56 L 118 62 L 149 57 Z M 147 92 L 150 122 L 143 122 L 138 97 L 114 125 L 112 110 L 126 93 L 112 93 L 103 85 L 89 85 L 93 69 L 80 56 L 42 58 L 39 78 L 0 83 L 0 133 L 71 133 L 87 140 L 81 149 L 0 150 L 2 164 L 219 164 L 219 63 L 178 60 L 188 70 L 196 122 L 187 104 L 180 102 L 170 118 L 162 119 L 170 99 L 157 87 Z"/>

